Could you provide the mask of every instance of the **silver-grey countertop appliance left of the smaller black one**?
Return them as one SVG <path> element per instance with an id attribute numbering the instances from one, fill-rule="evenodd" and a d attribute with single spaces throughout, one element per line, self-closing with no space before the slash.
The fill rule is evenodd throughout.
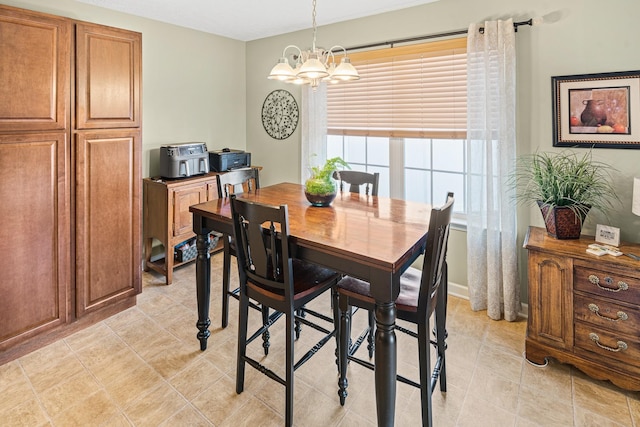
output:
<path id="1" fill-rule="evenodd" d="M 185 142 L 160 147 L 160 176 L 187 178 L 209 172 L 209 152 L 204 142 Z"/>

